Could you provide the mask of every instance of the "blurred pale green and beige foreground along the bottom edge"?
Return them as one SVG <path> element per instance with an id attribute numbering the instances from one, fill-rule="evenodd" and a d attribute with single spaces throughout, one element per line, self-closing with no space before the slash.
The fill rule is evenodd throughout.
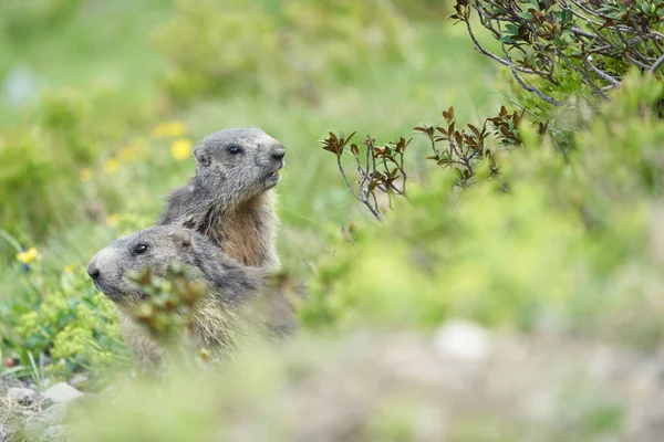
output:
<path id="1" fill-rule="evenodd" d="M 622 431 L 621 403 L 587 373 L 570 389 L 569 377 L 535 360 L 467 366 L 438 359 L 433 339 L 416 334 L 342 336 L 255 347 L 224 372 L 118 386 L 73 410 L 72 440 L 601 441 Z M 474 388 L 455 377 L 470 371 L 495 372 L 497 386 L 535 375 L 540 390 Z"/>

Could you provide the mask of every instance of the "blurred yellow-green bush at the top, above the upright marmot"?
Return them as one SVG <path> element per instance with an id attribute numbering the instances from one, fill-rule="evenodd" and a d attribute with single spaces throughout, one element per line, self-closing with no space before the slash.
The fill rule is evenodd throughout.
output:
<path id="1" fill-rule="evenodd" d="M 155 44 L 170 65 L 166 86 L 179 101 L 228 95 L 237 87 L 317 99 L 324 78 L 347 77 L 359 61 L 398 57 L 405 49 L 406 23 L 385 1 L 176 6 Z"/>

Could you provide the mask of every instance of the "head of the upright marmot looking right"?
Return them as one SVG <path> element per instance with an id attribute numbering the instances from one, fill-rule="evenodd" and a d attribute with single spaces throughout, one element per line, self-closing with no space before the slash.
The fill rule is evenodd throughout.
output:
<path id="1" fill-rule="evenodd" d="M 259 128 L 224 129 L 200 140 L 194 156 L 198 186 L 241 202 L 277 186 L 286 149 Z"/>

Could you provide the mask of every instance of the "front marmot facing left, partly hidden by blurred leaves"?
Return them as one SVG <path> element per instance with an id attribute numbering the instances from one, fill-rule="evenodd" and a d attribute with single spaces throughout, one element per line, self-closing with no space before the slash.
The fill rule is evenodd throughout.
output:
<path id="1" fill-rule="evenodd" d="M 133 319 L 133 308 L 147 295 L 128 276 L 146 266 L 164 276 L 169 263 L 194 267 L 205 281 L 206 294 L 194 307 L 189 332 L 201 348 L 214 355 L 231 352 L 237 313 L 266 283 L 264 270 L 236 262 L 207 238 L 179 225 L 153 227 L 113 241 L 92 259 L 87 274 L 95 287 L 120 307 L 123 338 L 135 365 L 145 371 L 164 367 L 164 350 Z"/>

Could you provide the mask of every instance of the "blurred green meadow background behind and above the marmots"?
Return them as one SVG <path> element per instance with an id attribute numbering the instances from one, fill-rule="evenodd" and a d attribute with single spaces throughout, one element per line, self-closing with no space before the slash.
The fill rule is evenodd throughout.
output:
<path id="1" fill-rule="evenodd" d="M 440 2 L 2 7 L 0 222 L 24 245 L 82 229 L 73 236 L 85 241 L 54 244 L 60 264 L 83 263 L 116 234 L 90 231 L 110 215 L 143 227 L 158 214 L 194 171 L 190 156 L 172 156 L 174 139 L 258 126 L 288 148 L 280 252 L 298 265 L 292 250 L 315 255 L 321 229 L 361 211 L 318 149 L 329 129 L 385 143 L 452 103 L 473 118 L 496 91 L 496 71 L 444 22 Z M 151 135 L 170 120 L 184 131 Z M 13 253 L 0 246 L 7 266 Z"/>

